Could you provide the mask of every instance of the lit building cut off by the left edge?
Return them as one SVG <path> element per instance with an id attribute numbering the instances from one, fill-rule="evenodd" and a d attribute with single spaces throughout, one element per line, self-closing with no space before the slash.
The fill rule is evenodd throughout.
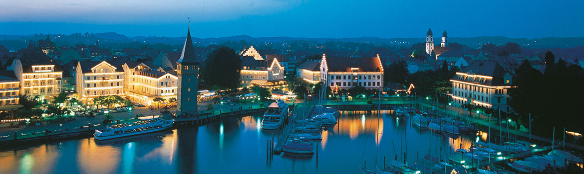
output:
<path id="1" fill-rule="evenodd" d="M 8 113 L 10 119 L 14 119 L 16 112 L 23 107 L 19 104 L 19 87 L 20 81 L 14 72 L 0 72 L 0 113 Z"/>

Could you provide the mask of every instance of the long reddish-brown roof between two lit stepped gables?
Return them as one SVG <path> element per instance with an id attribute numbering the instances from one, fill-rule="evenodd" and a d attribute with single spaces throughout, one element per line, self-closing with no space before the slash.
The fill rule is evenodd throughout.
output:
<path id="1" fill-rule="evenodd" d="M 383 72 L 379 57 L 325 59 L 328 72 L 353 72 L 351 68 L 359 68 L 359 72 Z"/>

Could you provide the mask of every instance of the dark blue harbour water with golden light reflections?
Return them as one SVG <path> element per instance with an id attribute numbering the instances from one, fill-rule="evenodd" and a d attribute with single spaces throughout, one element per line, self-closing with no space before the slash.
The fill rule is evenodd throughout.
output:
<path id="1" fill-rule="evenodd" d="M 365 160 L 367 168 L 376 165 L 376 145 L 381 168 L 384 157 L 387 164 L 405 152 L 411 162 L 428 153 L 446 157 L 478 137 L 486 140 L 486 133 L 449 137 L 382 113 L 377 120 L 377 111 L 343 111 L 339 123 L 314 141 L 318 153 L 308 156 L 267 158 L 267 140 L 277 141 L 280 131 L 262 130 L 262 113 L 255 113 L 123 139 L 4 147 L 0 173 L 359 173 Z"/>

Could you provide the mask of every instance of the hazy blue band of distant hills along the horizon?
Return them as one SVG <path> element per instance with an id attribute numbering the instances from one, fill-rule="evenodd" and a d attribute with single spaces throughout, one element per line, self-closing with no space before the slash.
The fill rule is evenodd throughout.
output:
<path id="1" fill-rule="evenodd" d="M 47 38 L 43 34 L 29 34 L 29 35 L 0 35 L 0 45 L 4 45 L 10 50 L 25 48 L 28 45 L 27 40 L 40 40 Z M 327 41 L 339 42 L 368 42 L 374 45 L 397 45 L 398 47 L 409 47 L 412 44 L 425 42 L 425 38 L 380 38 L 380 37 L 355 37 L 355 38 L 306 38 L 306 37 L 251 37 L 249 35 L 234 35 L 230 37 L 214 37 L 214 38 L 196 38 L 193 37 L 193 42 L 196 45 L 211 45 L 221 44 L 227 41 L 241 41 L 244 40 L 250 44 L 263 44 L 265 42 L 285 42 L 285 41 L 308 41 L 316 43 L 324 43 Z M 57 42 L 58 45 L 75 45 L 75 44 L 95 44 L 99 43 L 127 43 L 127 42 L 141 42 L 148 44 L 168 44 L 168 45 L 182 45 L 185 42 L 185 37 L 157 37 L 157 36 L 136 36 L 127 37 L 126 35 L 117 34 L 114 32 L 95 33 L 89 35 L 82 35 L 81 33 L 74 33 L 71 35 L 51 34 L 51 41 Z M 434 44 L 440 44 L 440 38 L 436 37 Z M 516 42 L 522 47 L 526 48 L 571 48 L 584 45 L 584 37 L 545 37 L 545 38 L 507 38 L 502 36 L 481 36 L 481 37 L 450 37 L 449 42 L 457 42 L 459 44 L 468 45 L 471 48 L 478 48 L 486 43 L 495 45 L 504 45 L 507 42 Z"/>

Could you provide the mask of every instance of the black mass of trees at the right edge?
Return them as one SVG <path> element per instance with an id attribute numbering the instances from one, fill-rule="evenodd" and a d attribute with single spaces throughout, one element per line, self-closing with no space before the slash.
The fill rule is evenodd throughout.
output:
<path id="1" fill-rule="evenodd" d="M 545 71 L 534 69 L 529 61 L 523 61 L 516 70 L 517 87 L 509 90 L 509 105 L 519 114 L 524 125 L 529 124 L 533 132 L 550 132 L 552 127 L 566 131 L 584 131 L 582 121 L 584 106 L 584 70 L 578 65 L 569 65 L 554 54 L 545 53 Z"/>

